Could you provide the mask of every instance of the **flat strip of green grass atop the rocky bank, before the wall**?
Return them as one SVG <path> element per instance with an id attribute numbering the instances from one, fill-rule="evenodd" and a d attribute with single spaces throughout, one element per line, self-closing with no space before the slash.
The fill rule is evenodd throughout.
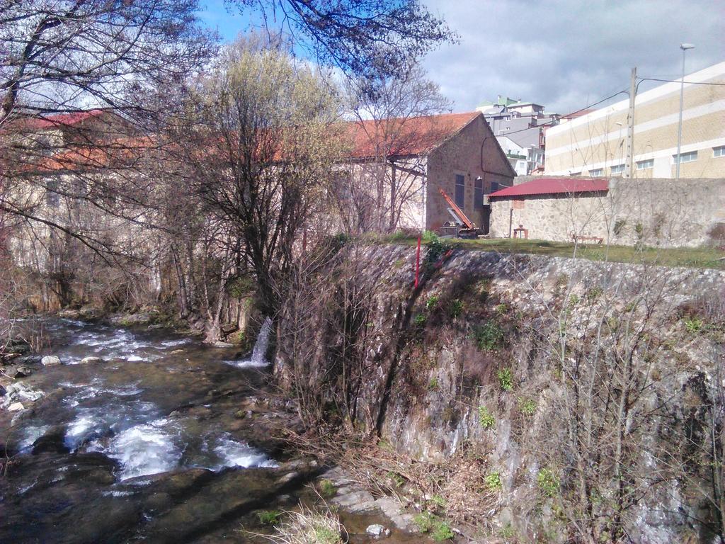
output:
<path id="1" fill-rule="evenodd" d="M 400 239 L 381 238 L 381 243 L 413 245 L 417 238 Z M 426 242 L 426 236 L 423 236 Z M 548 255 L 551 257 L 573 257 L 575 245 L 569 242 L 548 242 L 546 240 L 526 239 L 447 239 L 450 247 L 462 250 L 495 251 L 500 253 L 523 253 L 529 255 Z M 640 263 L 663 266 L 684 266 L 687 268 L 717 268 L 725 270 L 725 251 L 716 247 L 631 247 L 621 245 L 579 244 L 576 257 L 588 260 L 608 260 L 614 263 Z"/>

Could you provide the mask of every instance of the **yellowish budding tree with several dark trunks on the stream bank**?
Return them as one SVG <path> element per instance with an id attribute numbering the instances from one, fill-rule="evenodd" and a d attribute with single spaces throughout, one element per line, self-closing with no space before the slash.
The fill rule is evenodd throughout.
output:
<path id="1" fill-rule="evenodd" d="M 336 159 L 335 96 L 281 44 L 252 38 L 223 51 L 194 100 L 194 149 L 183 155 L 196 196 L 223 233 L 218 293 L 239 271 L 251 270 L 262 311 L 273 316 L 300 229 L 315 226 Z"/>

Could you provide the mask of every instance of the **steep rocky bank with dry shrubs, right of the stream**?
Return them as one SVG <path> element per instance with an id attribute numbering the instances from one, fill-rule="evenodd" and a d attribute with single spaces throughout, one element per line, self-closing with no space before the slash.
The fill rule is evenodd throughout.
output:
<path id="1" fill-rule="evenodd" d="M 434 247 L 415 289 L 414 262 L 350 247 L 318 278 L 320 410 L 422 460 L 476 459 L 500 535 L 717 541 L 724 272 Z"/>

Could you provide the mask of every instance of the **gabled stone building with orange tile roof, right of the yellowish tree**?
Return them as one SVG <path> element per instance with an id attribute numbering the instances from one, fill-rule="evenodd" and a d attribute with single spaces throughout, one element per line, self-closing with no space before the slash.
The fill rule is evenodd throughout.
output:
<path id="1" fill-rule="evenodd" d="M 347 131 L 341 213 L 379 216 L 371 227 L 352 230 L 436 230 L 454 219 L 443 189 L 486 231 L 485 196 L 512 185 L 516 175 L 480 112 L 366 120 Z"/>

